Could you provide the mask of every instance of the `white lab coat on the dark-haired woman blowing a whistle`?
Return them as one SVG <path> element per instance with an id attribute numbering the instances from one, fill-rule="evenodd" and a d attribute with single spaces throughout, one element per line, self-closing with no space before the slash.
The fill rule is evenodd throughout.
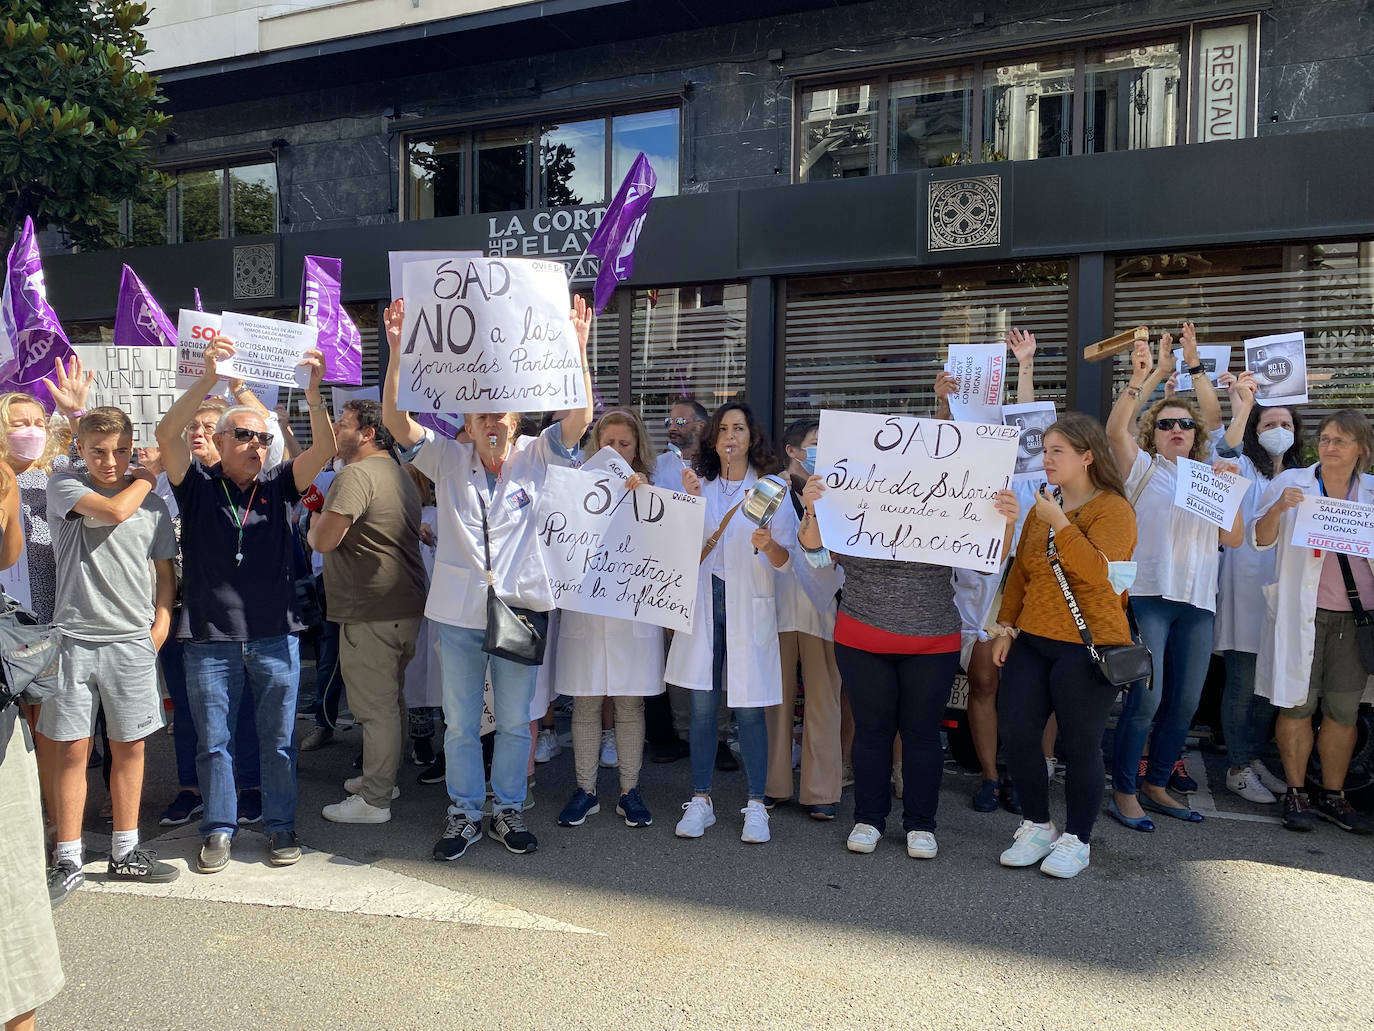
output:
<path id="1" fill-rule="evenodd" d="M 741 489 L 730 498 L 721 494 L 720 478 L 702 483 L 701 495 L 706 502 L 706 521 L 702 543 L 716 532 L 727 511 L 743 499 L 758 480 L 754 470 L 745 476 Z M 761 551 L 754 554 L 749 537 L 757 526 L 736 511 L 725 526 L 717 550 L 723 548 L 725 562 L 725 702 L 735 709 L 782 704 L 782 656 L 778 649 L 778 609 L 774 598 L 774 566 Z M 771 524 L 774 539 L 787 548 L 789 569 L 797 548 L 797 513 L 783 503 Z M 684 547 L 695 544 L 683 542 Z M 712 619 L 710 569 L 708 557 L 697 580 L 697 609 L 690 634 L 677 631 L 668 652 L 664 672 L 668 683 L 694 691 L 712 687 L 712 647 L 714 621 Z"/>

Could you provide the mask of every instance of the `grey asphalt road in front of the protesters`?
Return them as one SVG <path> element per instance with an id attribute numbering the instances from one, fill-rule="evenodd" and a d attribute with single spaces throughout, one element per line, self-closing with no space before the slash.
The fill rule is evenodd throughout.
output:
<path id="1" fill-rule="evenodd" d="M 185 873 L 168 898 L 93 876 L 56 913 L 67 987 L 40 1026 L 1374 1027 L 1374 839 L 1259 822 L 1271 814 L 1227 796 L 1215 756 L 1216 815 L 1161 817 L 1154 834 L 1103 817 L 1090 870 L 1057 881 L 998 865 L 1017 818 L 973 812 L 976 782 L 956 773 L 930 862 L 907 858 L 897 812 L 872 855 L 845 851 L 848 792 L 833 823 L 780 807 L 769 844 L 742 844 L 742 774 L 717 774 L 719 822 L 680 841 L 686 762 L 644 766 L 654 826 L 625 828 L 611 803 L 562 829 L 570 749 L 537 771 L 537 854 L 486 839 L 437 863 L 444 788 L 414 767 L 392 823 L 320 818 L 357 741 L 302 756 L 298 829 L 319 855 L 301 866 L 267 867 L 245 833 L 228 870 Z M 146 839 L 170 766 L 157 735 Z M 614 771 L 602 792 L 614 797 Z M 1051 797 L 1062 812 L 1062 789 Z M 185 859 L 195 841 L 151 845 Z"/>

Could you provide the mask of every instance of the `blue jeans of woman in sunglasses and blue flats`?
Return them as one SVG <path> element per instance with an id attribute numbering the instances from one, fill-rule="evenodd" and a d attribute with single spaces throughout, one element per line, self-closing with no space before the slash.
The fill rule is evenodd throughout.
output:
<path id="1" fill-rule="evenodd" d="M 1138 793 L 1136 767 L 1146 738 L 1150 741 L 1150 764 L 1145 779 L 1157 788 L 1168 785 L 1212 661 L 1213 616 L 1206 609 L 1146 597 L 1132 598 L 1131 610 L 1154 660 L 1154 679 L 1153 690 L 1146 690 L 1143 683 L 1131 686 L 1117 720 L 1112 784 L 1123 795 Z"/>

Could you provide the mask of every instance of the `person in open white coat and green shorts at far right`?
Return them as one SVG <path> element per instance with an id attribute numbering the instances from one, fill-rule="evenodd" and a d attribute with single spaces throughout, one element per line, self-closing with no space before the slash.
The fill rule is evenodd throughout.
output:
<path id="1" fill-rule="evenodd" d="M 1322 419 L 1316 432 L 1318 465 L 1274 477 L 1250 539 L 1260 551 L 1278 548 L 1278 577 L 1264 588 L 1268 632 L 1264 635 L 1257 689 L 1278 708 L 1275 734 L 1287 793 L 1283 826 L 1311 830 L 1320 817 L 1342 830 L 1367 834 L 1370 821 L 1345 800 L 1345 773 L 1355 752 L 1356 720 L 1369 671 L 1360 663 L 1352 595 L 1374 609 L 1374 561 L 1294 544 L 1297 506 L 1308 495 L 1374 505 L 1374 433 L 1369 419 L 1349 408 Z M 1342 565 L 1345 569 L 1342 569 Z M 1322 708 L 1322 733 L 1312 716 Z M 1314 740 L 1322 759 L 1322 797 L 1314 807 L 1304 790 Z"/>

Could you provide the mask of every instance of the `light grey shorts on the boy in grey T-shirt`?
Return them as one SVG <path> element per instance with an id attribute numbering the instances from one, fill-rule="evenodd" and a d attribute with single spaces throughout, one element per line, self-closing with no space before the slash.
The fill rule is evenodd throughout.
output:
<path id="1" fill-rule="evenodd" d="M 62 638 L 58 691 L 43 702 L 38 733 L 54 741 L 92 737 L 100 708 L 111 741 L 140 741 L 164 726 L 153 638 Z"/>

